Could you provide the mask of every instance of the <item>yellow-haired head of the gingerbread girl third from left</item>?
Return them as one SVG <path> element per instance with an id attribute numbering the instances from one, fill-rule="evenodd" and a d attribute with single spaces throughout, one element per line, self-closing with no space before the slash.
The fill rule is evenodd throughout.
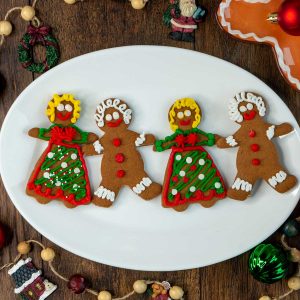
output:
<path id="1" fill-rule="evenodd" d="M 169 122 L 173 131 L 197 128 L 200 121 L 200 107 L 192 98 L 177 100 L 169 110 Z"/>

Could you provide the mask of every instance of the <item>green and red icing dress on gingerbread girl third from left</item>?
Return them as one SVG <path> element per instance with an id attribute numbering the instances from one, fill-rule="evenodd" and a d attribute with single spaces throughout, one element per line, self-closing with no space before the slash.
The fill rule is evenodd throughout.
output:
<path id="1" fill-rule="evenodd" d="M 207 137 L 207 140 L 198 142 L 198 134 Z M 172 149 L 162 192 L 165 207 L 226 197 L 223 178 L 202 147 L 214 144 L 214 135 L 198 128 L 177 129 L 173 135 L 156 141 L 157 151 Z"/>

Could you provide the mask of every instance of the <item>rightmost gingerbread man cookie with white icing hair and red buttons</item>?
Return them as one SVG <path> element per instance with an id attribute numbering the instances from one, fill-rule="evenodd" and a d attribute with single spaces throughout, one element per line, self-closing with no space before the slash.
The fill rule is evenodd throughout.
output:
<path id="1" fill-rule="evenodd" d="M 230 101 L 230 119 L 241 127 L 233 135 L 219 139 L 217 146 L 239 147 L 237 175 L 227 193 L 232 199 L 245 200 L 259 179 L 279 193 L 287 192 L 297 183 L 296 177 L 282 167 L 272 142 L 274 137 L 293 131 L 293 127 L 288 123 L 270 124 L 263 119 L 265 114 L 265 102 L 259 95 L 242 92 Z"/>

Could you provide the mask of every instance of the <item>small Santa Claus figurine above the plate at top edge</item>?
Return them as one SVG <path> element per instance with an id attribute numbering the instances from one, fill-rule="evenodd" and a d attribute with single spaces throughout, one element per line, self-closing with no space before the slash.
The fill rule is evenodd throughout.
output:
<path id="1" fill-rule="evenodd" d="M 165 25 L 172 28 L 169 37 L 173 40 L 194 42 L 194 31 L 204 21 L 207 10 L 198 6 L 196 0 L 170 0 L 163 15 Z"/>

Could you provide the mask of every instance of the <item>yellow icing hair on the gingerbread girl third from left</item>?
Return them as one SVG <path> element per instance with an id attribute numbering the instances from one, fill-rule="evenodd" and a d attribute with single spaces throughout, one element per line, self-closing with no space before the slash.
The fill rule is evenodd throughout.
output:
<path id="1" fill-rule="evenodd" d="M 199 105 L 192 98 L 182 98 L 175 101 L 175 103 L 172 105 L 169 112 L 170 127 L 173 131 L 175 131 L 178 128 L 178 126 L 175 124 L 175 116 L 176 116 L 175 109 L 180 109 L 182 107 L 187 107 L 195 110 L 195 121 L 192 124 L 193 128 L 196 128 L 200 123 L 201 110 Z"/>

